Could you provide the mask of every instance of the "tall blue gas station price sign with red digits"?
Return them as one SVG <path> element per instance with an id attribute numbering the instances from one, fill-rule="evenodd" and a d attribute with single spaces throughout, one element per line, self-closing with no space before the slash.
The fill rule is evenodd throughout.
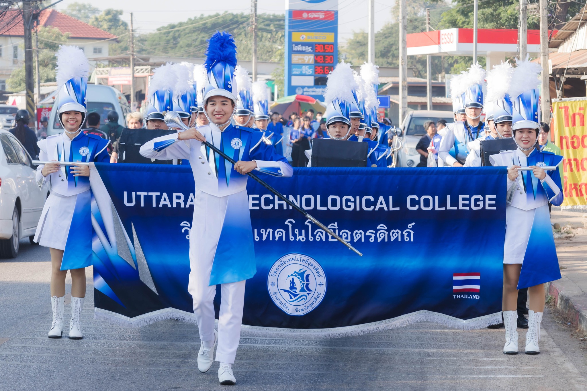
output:
<path id="1" fill-rule="evenodd" d="M 285 94 L 324 100 L 338 62 L 338 0 L 287 0 Z"/>

